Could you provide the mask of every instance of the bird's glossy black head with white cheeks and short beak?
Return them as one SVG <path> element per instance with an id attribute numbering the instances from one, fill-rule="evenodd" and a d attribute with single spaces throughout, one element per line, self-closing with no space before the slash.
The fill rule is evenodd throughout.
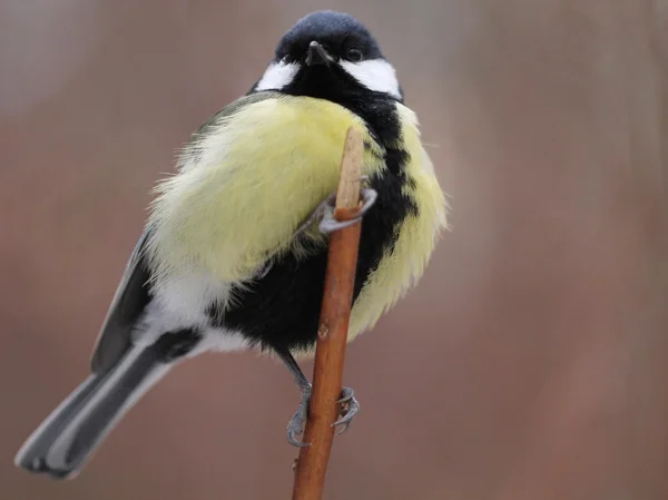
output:
<path id="1" fill-rule="evenodd" d="M 366 27 L 352 16 L 328 10 L 306 16 L 283 36 L 253 88 L 261 90 L 336 102 L 403 99 L 394 68 Z"/>

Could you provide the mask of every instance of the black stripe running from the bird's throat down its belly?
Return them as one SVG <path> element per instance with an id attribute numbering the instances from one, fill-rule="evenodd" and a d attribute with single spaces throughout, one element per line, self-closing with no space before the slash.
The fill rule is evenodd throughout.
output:
<path id="1" fill-rule="evenodd" d="M 310 68 L 306 68 L 308 70 Z M 297 75 L 285 94 L 328 99 L 346 107 L 365 120 L 374 139 L 385 149 L 386 170 L 372 176 L 371 187 L 377 194 L 375 205 L 362 223 L 360 254 L 353 301 L 385 253 L 392 253 L 399 226 L 410 214 L 418 214 L 414 200 L 402 193 L 413 183 L 406 175 L 409 151 L 401 145 L 401 124 L 396 100 L 361 87 L 346 75 Z M 343 80 L 343 81 L 342 81 Z M 343 84 L 343 85 L 342 85 Z M 308 257 L 297 259 L 288 253 L 274 261 L 258 281 L 233 290 L 234 301 L 225 311 L 219 304 L 208 307 L 212 325 L 238 331 L 262 347 L 293 351 L 310 349 L 315 343 L 327 248 L 314 248 Z"/>

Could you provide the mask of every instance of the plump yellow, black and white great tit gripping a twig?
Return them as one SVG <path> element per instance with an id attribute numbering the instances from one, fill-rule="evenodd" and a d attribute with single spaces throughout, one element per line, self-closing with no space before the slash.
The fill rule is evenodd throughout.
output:
<path id="1" fill-rule="evenodd" d="M 363 137 L 362 202 L 333 217 L 350 127 Z M 214 114 L 157 182 L 144 232 L 102 323 L 90 375 L 27 439 L 14 463 L 71 479 L 174 366 L 205 352 L 281 360 L 301 391 L 286 429 L 302 447 L 332 232 L 361 222 L 347 341 L 424 275 L 449 205 L 394 67 L 356 18 L 331 10 L 279 39 L 247 94 Z M 342 388 L 337 433 L 360 403 Z"/>

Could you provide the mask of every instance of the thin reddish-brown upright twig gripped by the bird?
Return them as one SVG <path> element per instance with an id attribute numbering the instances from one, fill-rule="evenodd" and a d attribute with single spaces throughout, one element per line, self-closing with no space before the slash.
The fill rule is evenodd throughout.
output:
<path id="1" fill-rule="evenodd" d="M 358 210 L 363 147 L 360 131 L 348 128 L 336 190 L 334 216 L 337 220 L 347 220 Z M 330 236 L 325 293 L 315 347 L 313 391 L 303 438 L 304 442 L 311 445 L 299 451 L 293 500 L 320 500 L 323 497 L 334 439 L 332 424 L 341 411 L 336 401 L 341 398 L 343 382 L 360 232 L 361 224 L 357 223 Z"/>

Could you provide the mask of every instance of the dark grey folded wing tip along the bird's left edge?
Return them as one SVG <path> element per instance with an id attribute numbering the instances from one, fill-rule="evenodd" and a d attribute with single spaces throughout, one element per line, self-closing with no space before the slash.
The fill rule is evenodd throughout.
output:
<path id="1" fill-rule="evenodd" d="M 147 227 L 139 237 L 118 284 L 92 351 L 90 369 L 94 373 L 114 366 L 131 346 L 132 326 L 150 301 L 150 274 L 144 255 L 149 235 L 150 227 Z"/>

